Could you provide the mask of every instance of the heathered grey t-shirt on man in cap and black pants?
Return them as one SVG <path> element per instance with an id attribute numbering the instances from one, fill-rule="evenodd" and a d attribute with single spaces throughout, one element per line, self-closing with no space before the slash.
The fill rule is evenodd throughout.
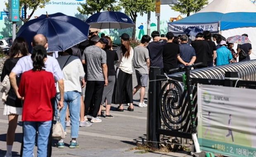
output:
<path id="1" fill-rule="evenodd" d="M 89 46 L 85 48 L 82 59 L 87 65 L 88 81 L 104 81 L 102 64 L 107 63 L 107 55 L 99 46 Z"/>

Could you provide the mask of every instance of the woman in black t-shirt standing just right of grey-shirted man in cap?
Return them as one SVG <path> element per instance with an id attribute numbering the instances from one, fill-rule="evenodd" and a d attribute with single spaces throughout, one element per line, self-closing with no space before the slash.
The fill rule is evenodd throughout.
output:
<path id="1" fill-rule="evenodd" d="M 109 44 L 106 46 L 105 51 L 107 54 L 107 75 L 108 75 L 108 85 L 104 86 L 103 94 L 102 94 L 102 100 L 101 100 L 101 106 L 102 104 L 106 105 L 106 115 L 105 118 L 114 118 L 114 115 L 110 115 L 110 107 L 112 102 L 112 95 L 114 91 L 114 85 L 116 82 L 116 72 L 114 67 L 114 61 L 118 60 L 118 56 L 116 51 L 112 48 L 112 41 L 110 37 L 105 36 L 105 38 L 108 40 Z M 106 101 L 105 101 L 106 100 Z M 101 110 L 102 107 L 100 107 L 100 110 L 98 112 L 98 116 L 101 116 Z"/>

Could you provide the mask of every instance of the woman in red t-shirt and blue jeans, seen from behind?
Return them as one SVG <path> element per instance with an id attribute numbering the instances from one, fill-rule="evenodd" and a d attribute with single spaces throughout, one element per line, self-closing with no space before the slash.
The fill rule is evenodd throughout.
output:
<path id="1" fill-rule="evenodd" d="M 23 121 L 23 155 L 33 156 L 36 131 L 38 131 L 38 157 L 47 156 L 47 142 L 52 125 L 52 104 L 55 96 L 55 81 L 51 72 L 46 72 L 44 62 L 47 59 L 43 46 L 35 46 L 32 51 L 33 69 L 24 72 L 19 84 L 19 94 L 24 99 Z"/>

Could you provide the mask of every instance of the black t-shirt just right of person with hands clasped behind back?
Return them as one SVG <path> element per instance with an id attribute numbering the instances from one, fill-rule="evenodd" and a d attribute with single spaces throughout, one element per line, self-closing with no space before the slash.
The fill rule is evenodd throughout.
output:
<path id="1" fill-rule="evenodd" d="M 207 55 L 211 53 L 208 42 L 204 40 L 195 40 L 191 43 L 191 45 L 193 46 L 197 55 L 197 59 L 194 63 L 202 62 L 200 66 L 207 66 Z"/>

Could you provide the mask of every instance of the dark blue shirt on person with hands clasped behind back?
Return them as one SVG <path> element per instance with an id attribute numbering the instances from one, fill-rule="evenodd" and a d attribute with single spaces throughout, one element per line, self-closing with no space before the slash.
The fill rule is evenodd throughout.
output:
<path id="1" fill-rule="evenodd" d="M 184 61 L 189 63 L 191 58 L 196 56 L 196 52 L 194 48 L 187 43 L 180 44 L 180 58 Z"/>

